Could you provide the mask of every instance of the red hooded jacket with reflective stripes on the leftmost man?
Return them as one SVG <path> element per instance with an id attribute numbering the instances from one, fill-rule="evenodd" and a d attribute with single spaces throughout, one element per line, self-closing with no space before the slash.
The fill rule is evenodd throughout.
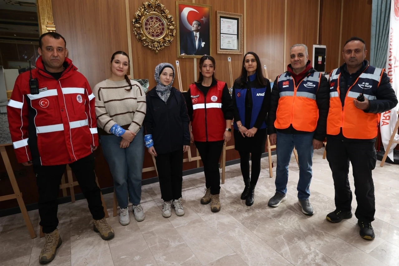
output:
<path id="1" fill-rule="evenodd" d="M 73 163 L 98 146 L 94 98 L 89 82 L 65 59 L 59 80 L 44 70 L 41 57 L 32 70 L 37 95 L 30 94 L 29 71 L 20 74 L 7 106 L 11 139 L 18 162 L 35 165 Z"/>

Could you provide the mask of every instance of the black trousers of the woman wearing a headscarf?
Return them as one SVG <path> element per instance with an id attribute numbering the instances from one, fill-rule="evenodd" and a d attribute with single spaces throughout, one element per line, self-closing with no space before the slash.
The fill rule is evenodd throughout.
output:
<path id="1" fill-rule="evenodd" d="M 162 199 L 164 201 L 180 199 L 183 182 L 183 147 L 171 153 L 158 154 L 155 161 Z"/>

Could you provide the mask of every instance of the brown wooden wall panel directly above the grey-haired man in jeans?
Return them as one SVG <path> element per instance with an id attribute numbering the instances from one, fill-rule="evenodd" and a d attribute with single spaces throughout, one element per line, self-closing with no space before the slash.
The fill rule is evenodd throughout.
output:
<path id="1" fill-rule="evenodd" d="M 318 36 L 318 5 L 319 0 L 287 0 L 286 65 L 290 64 L 290 47 L 294 44 L 308 46 L 309 60 L 312 60 L 312 48 Z"/>

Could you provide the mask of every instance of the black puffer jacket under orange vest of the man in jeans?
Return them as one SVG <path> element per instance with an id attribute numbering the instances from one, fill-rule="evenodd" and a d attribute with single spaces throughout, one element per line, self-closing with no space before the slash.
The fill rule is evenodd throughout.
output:
<path id="1" fill-rule="evenodd" d="M 314 68 L 310 69 L 305 77 L 310 74 L 316 72 Z M 290 75 L 290 72 L 287 71 L 287 73 Z M 308 133 L 304 131 L 298 131 L 292 127 L 292 124 L 288 129 L 277 129 L 274 126 L 274 122 L 276 121 L 276 113 L 277 113 L 277 106 L 279 105 L 279 99 L 280 99 L 280 91 L 279 87 L 277 87 L 277 78 L 273 84 L 273 89 L 271 93 L 271 103 L 270 103 L 270 111 L 269 115 L 267 117 L 267 133 L 273 134 L 276 133 L 277 130 L 282 133 L 288 133 L 288 134 L 303 134 L 303 133 Z M 296 81 L 295 85 L 298 85 L 301 80 Z M 327 132 L 327 116 L 328 116 L 328 109 L 330 109 L 330 87 L 328 86 L 328 80 L 327 78 L 322 75 L 320 79 L 320 86 L 319 89 L 316 93 L 316 103 L 317 107 L 319 109 L 319 119 L 317 120 L 317 126 L 316 130 L 314 131 L 314 139 L 317 139 L 318 141 L 324 141 L 326 138 L 326 132 Z M 304 114 L 306 115 L 306 114 Z"/>

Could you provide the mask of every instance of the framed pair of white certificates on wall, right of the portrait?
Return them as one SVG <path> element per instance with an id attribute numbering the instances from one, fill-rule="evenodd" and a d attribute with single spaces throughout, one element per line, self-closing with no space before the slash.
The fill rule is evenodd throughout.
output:
<path id="1" fill-rule="evenodd" d="M 217 53 L 243 54 L 243 14 L 217 11 Z"/>

